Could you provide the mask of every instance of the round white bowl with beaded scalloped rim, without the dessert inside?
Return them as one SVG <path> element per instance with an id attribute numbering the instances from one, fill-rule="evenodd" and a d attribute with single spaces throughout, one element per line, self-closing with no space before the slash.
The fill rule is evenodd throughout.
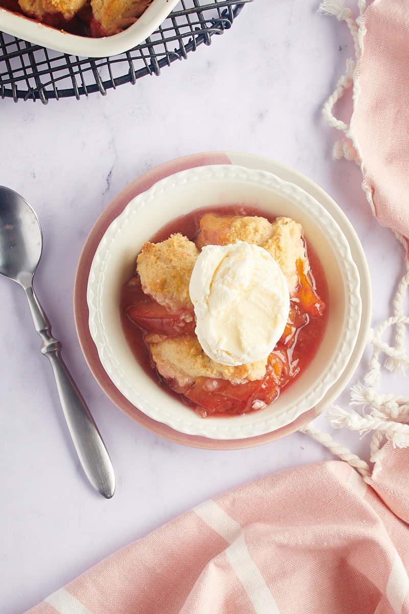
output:
<path id="1" fill-rule="evenodd" d="M 329 301 L 324 338 L 308 369 L 264 410 L 232 418 L 199 418 L 170 397 L 140 367 L 123 335 L 118 308 L 123 282 L 142 244 L 160 227 L 193 209 L 256 206 L 302 224 L 323 265 Z M 199 166 L 175 173 L 132 199 L 105 231 L 94 254 L 87 302 L 99 360 L 132 405 L 180 433 L 238 440 L 270 433 L 313 408 L 348 365 L 361 325 L 359 273 L 350 246 L 329 212 L 295 184 L 267 171 L 234 165 Z"/>

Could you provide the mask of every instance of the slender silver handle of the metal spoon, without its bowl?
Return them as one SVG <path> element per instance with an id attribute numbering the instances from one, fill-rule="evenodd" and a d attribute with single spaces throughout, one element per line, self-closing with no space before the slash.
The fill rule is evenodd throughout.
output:
<path id="1" fill-rule="evenodd" d="M 50 322 L 33 287 L 24 290 L 34 326 L 42 339 L 41 352 L 52 365 L 59 399 L 82 467 L 94 488 L 110 499 L 115 492 L 115 474 L 104 441 L 61 357 L 61 343 L 53 337 Z"/>

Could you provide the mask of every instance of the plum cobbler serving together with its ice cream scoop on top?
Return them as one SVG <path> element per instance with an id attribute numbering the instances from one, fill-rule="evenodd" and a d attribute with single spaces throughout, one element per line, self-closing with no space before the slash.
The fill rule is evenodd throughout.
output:
<path id="1" fill-rule="evenodd" d="M 326 302 L 321 263 L 301 225 L 232 206 L 194 211 L 143 244 L 120 310 L 145 371 L 204 418 L 261 410 L 290 386 L 323 338 Z"/>

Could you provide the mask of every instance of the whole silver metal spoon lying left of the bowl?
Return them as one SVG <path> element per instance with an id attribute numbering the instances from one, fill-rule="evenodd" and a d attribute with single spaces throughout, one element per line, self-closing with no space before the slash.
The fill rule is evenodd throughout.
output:
<path id="1" fill-rule="evenodd" d="M 59 398 L 72 441 L 88 480 L 104 497 L 115 491 L 115 475 L 96 424 L 61 358 L 61 343 L 51 333 L 50 322 L 32 287 L 42 252 L 39 220 L 25 199 L 0 186 L 0 273 L 23 287 L 41 352 L 50 360 Z"/>

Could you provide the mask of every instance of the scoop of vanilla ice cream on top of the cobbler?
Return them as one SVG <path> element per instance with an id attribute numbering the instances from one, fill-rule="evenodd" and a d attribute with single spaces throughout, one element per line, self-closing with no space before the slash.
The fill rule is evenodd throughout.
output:
<path id="1" fill-rule="evenodd" d="M 203 247 L 189 294 L 197 339 L 222 365 L 267 359 L 288 320 L 284 274 L 269 252 L 245 241 Z"/>

